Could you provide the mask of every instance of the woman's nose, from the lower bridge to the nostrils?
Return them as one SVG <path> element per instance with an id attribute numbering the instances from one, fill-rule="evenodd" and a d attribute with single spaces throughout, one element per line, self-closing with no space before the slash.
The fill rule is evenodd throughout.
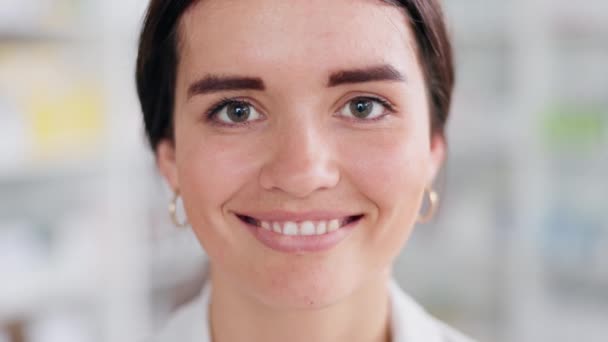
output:
<path id="1" fill-rule="evenodd" d="M 305 198 L 338 184 L 339 170 L 332 144 L 321 129 L 306 120 L 294 120 L 275 132 L 270 157 L 260 172 L 266 190 Z"/>

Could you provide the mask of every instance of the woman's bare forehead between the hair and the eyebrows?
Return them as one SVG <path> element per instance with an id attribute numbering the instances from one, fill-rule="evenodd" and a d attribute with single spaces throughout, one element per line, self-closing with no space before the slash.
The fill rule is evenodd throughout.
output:
<path id="1" fill-rule="evenodd" d="M 407 20 L 382 0 L 202 0 L 180 22 L 180 67 L 314 74 L 386 63 L 410 74 Z"/>

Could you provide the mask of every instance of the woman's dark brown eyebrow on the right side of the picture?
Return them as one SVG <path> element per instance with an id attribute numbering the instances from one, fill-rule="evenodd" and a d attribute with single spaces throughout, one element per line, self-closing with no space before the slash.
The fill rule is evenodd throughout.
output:
<path id="1" fill-rule="evenodd" d="M 340 70 L 329 76 L 328 87 L 335 87 L 348 83 L 363 83 L 373 81 L 405 81 L 402 75 L 393 66 L 384 64 L 364 69 Z"/>

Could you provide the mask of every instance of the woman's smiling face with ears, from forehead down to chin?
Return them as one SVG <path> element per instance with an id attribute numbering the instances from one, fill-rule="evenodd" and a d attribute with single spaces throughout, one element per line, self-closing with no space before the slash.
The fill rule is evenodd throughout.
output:
<path id="1" fill-rule="evenodd" d="M 386 274 L 444 154 L 415 49 L 380 0 L 184 14 L 175 140 L 157 158 L 214 272 L 276 308 L 323 307 Z"/>

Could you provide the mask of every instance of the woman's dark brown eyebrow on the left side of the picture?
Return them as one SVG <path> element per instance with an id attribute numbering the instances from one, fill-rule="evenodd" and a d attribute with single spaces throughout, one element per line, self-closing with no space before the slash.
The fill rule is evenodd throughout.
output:
<path id="1" fill-rule="evenodd" d="M 188 98 L 222 90 L 264 90 L 264 81 L 258 77 L 207 75 L 188 87 Z"/>

